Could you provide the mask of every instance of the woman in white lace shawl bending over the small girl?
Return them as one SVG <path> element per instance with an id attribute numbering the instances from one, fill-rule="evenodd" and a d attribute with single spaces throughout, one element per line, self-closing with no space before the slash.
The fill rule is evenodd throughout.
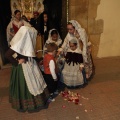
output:
<path id="1" fill-rule="evenodd" d="M 93 72 L 93 63 L 88 50 L 88 37 L 84 28 L 76 20 L 70 20 L 67 24 L 68 34 L 65 37 L 64 43 L 59 49 L 59 52 L 64 51 L 65 53 L 70 49 L 69 41 L 76 37 L 78 39 L 79 49 L 82 51 L 83 60 L 85 63 L 86 78 L 90 78 Z M 82 46 L 80 45 L 82 43 Z M 58 54 L 59 54 L 58 52 Z"/>

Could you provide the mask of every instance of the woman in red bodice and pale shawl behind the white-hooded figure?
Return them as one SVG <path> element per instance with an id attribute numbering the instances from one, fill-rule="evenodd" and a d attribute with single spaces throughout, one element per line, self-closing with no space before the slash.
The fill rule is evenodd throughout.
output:
<path id="1" fill-rule="evenodd" d="M 17 33 L 21 26 L 31 26 L 28 22 L 21 18 L 21 12 L 19 10 L 15 10 L 14 16 L 12 17 L 10 23 L 7 26 L 7 41 L 8 46 L 10 46 L 10 41 Z"/>

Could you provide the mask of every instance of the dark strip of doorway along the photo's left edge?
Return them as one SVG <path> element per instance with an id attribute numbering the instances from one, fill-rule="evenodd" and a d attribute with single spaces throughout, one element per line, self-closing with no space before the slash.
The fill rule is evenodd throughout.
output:
<path id="1" fill-rule="evenodd" d="M 10 0 L 0 0 L 0 54 L 3 64 L 7 63 L 4 54 L 8 49 L 6 27 L 11 19 Z"/>

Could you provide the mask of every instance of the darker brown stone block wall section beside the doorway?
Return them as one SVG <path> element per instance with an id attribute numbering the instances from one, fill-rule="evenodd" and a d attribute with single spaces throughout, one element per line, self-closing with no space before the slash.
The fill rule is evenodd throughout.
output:
<path id="1" fill-rule="evenodd" d="M 69 0 L 69 20 L 77 20 L 85 28 L 92 43 L 92 55 L 97 57 L 103 20 L 95 20 L 100 0 Z"/>

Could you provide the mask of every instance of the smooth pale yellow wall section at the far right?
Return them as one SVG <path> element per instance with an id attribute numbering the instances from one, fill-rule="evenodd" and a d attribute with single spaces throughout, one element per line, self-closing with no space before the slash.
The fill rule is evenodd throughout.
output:
<path id="1" fill-rule="evenodd" d="M 120 56 L 120 0 L 101 0 L 96 20 L 104 20 L 97 57 Z"/>

